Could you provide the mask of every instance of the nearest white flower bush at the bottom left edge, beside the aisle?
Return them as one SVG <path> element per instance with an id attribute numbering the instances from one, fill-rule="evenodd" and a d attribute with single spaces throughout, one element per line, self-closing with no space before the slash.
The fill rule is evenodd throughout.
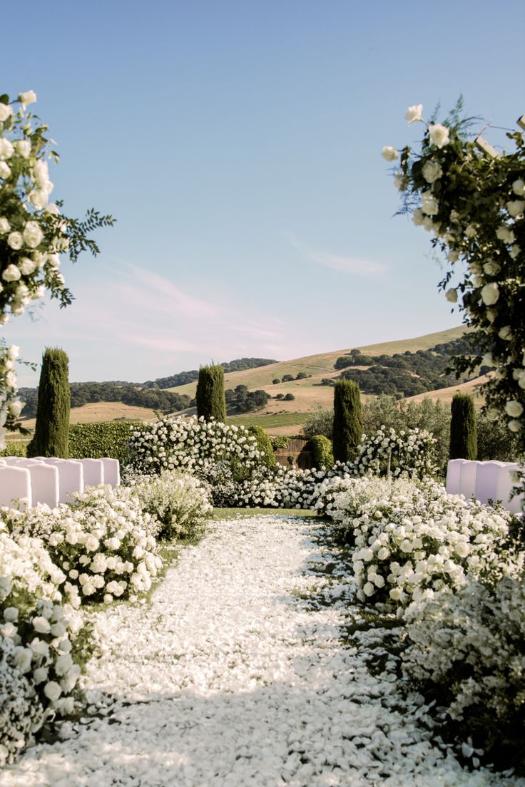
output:
<path id="1" fill-rule="evenodd" d="M 81 666 L 94 648 L 78 606 L 76 587 L 43 541 L 2 529 L 0 764 L 75 708 Z"/>

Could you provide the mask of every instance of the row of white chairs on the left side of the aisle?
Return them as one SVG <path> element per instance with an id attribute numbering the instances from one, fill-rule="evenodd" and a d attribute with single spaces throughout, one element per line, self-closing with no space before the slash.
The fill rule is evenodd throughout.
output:
<path id="1" fill-rule="evenodd" d="M 11 506 L 20 500 L 20 508 L 46 503 L 70 503 L 72 494 L 84 486 L 120 483 L 120 464 L 116 459 L 57 459 L 35 456 L 0 458 L 0 505 Z"/>

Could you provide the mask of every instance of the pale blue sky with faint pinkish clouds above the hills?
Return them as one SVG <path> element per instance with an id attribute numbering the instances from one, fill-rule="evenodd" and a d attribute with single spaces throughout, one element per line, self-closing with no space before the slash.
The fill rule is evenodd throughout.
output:
<path id="1" fill-rule="evenodd" d="M 118 220 L 63 264 L 68 309 L 6 328 L 24 358 L 142 382 L 460 323 L 380 153 L 420 139 L 408 105 L 460 93 L 516 127 L 522 0 L 27 0 L 2 23 L 2 92 L 36 92 L 61 153 L 53 197 Z"/>

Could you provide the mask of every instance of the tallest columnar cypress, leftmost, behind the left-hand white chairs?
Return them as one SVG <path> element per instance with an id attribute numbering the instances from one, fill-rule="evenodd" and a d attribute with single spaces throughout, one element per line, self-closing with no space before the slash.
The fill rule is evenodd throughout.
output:
<path id="1" fill-rule="evenodd" d="M 62 349 L 46 347 L 40 372 L 35 434 L 28 445 L 28 456 L 68 458 L 70 406 L 68 356 Z"/>

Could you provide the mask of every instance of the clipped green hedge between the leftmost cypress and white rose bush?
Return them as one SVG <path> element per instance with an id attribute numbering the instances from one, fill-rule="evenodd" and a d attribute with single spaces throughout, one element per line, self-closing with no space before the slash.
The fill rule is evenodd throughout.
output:
<path id="1" fill-rule="evenodd" d="M 69 427 L 69 456 L 72 459 L 100 459 L 109 456 L 128 461 L 128 440 L 140 421 L 76 423 Z"/>

